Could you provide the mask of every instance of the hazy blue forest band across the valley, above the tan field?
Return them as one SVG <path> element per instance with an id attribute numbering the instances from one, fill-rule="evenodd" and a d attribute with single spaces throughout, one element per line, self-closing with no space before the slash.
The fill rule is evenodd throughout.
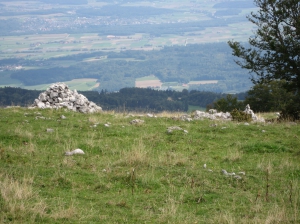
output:
<path id="1" fill-rule="evenodd" d="M 107 60 L 80 62 L 84 58 L 101 56 L 106 56 Z M 18 64 L 34 66 L 30 63 L 36 63 L 22 60 Z M 57 67 L 57 63 L 61 64 L 64 60 L 78 63 L 69 67 Z M 0 61 L 0 65 L 8 62 Z M 192 87 L 201 91 L 245 92 L 252 86 L 248 71 L 235 64 L 226 43 L 170 46 L 159 51 L 93 52 L 52 58 L 42 63 L 50 68 L 15 71 L 11 78 L 28 86 L 96 78 L 100 82 L 98 91 L 118 91 L 121 88 L 134 87 L 136 78 L 149 75 L 155 75 L 162 82 L 218 80 L 218 84 Z"/>

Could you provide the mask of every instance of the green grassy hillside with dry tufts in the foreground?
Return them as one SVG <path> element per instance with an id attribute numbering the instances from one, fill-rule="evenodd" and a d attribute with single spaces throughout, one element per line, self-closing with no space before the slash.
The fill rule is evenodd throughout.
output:
<path id="1" fill-rule="evenodd" d="M 1 109 L 0 222 L 300 222 L 299 124 L 178 116 Z"/>

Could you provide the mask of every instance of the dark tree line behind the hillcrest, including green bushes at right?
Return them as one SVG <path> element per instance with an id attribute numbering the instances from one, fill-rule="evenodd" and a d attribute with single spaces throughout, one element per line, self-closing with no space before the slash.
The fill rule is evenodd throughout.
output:
<path id="1" fill-rule="evenodd" d="M 119 92 L 78 91 L 90 101 L 100 105 L 103 110 L 161 112 L 187 112 L 189 106 L 198 106 L 206 110 L 231 112 L 244 110 L 247 104 L 255 112 L 282 112 L 293 100 L 293 95 L 283 87 L 285 81 L 272 81 L 257 84 L 247 92 L 238 94 L 221 94 L 208 91 L 181 92 L 167 90 L 157 91 L 143 88 L 123 88 Z M 26 90 L 15 87 L 0 88 L 0 106 L 29 106 L 42 91 Z"/>

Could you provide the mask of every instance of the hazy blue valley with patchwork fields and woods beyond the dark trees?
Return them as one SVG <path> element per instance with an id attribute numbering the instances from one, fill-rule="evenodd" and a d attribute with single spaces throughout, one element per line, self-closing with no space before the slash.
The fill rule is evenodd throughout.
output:
<path id="1" fill-rule="evenodd" d="M 252 34 L 246 20 L 256 10 L 252 1 L 0 4 L 1 86 L 45 89 L 61 81 L 78 90 L 117 91 L 150 76 L 160 89 L 178 91 L 251 87 L 226 42 Z"/>

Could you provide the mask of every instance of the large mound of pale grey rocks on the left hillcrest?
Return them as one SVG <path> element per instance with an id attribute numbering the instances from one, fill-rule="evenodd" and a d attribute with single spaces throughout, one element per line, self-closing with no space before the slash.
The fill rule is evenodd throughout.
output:
<path id="1" fill-rule="evenodd" d="M 102 111 L 102 108 L 82 94 L 72 91 L 64 83 L 55 83 L 35 99 L 33 107 L 38 108 L 67 108 L 81 113 L 94 113 Z"/>

